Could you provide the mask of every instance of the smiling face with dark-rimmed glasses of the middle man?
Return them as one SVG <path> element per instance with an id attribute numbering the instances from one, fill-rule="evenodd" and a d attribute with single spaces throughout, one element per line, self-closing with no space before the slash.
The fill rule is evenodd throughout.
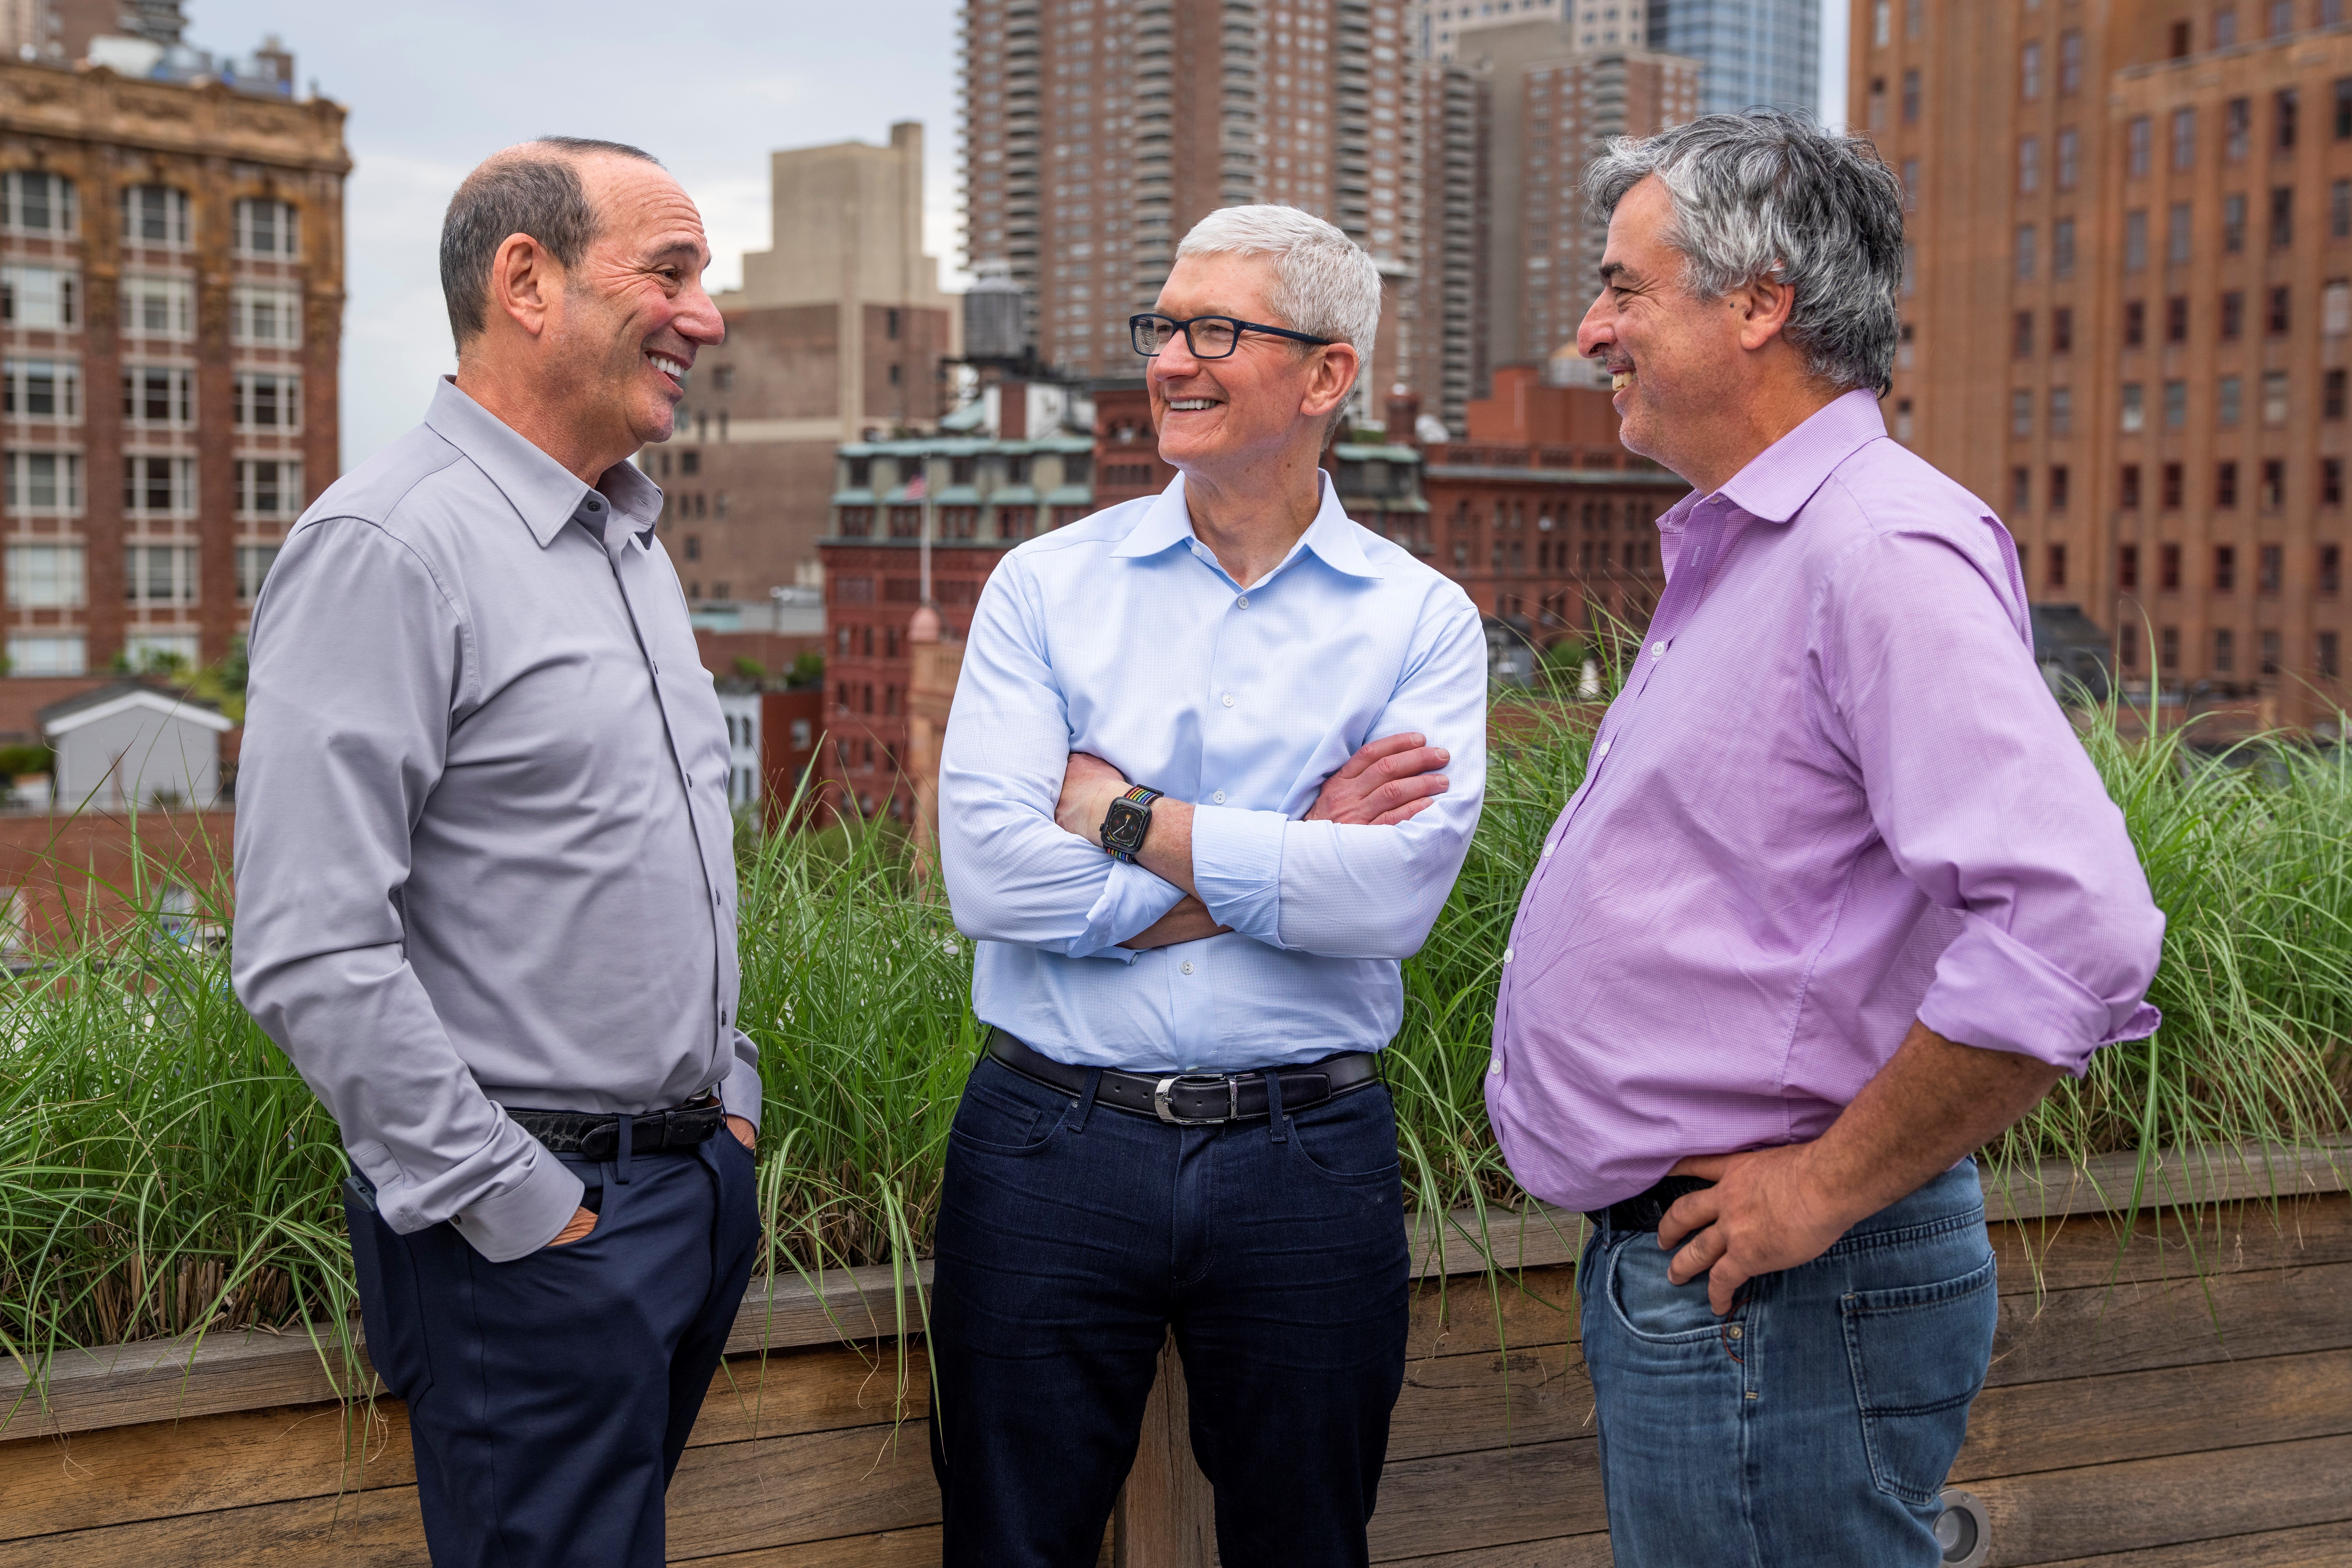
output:
<path id="1" fill-rule="evenodd" d="M 1289 327 L 1272 313 L 1272 256 L 1178 256 L 1152 308 L 1178 322 L 1230 315 Z M 1315 348 L 1263 331 L 1244 331 L 1223 360 L 1195 360 L 1178 334 L 1145 364 L 1160 456 L 1188 475 L 1242 470 L 1279 458 L 1301 442 L 1310 447 L 1312 463 L 1322 451 L 1324 423 L 1355 381 L 1355 350 Z"/>

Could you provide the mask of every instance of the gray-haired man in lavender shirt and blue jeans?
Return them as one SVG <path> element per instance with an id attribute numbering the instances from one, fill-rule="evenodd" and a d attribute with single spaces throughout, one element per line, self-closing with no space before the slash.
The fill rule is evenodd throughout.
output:
<path id="1" fill-rule="evenodd" d="M 1938 1563 L 1994 1328 L 1976 1166 L 2157 1027 L 2164 917 L 2016 545 L 1886 440 L 1900 188 L 1773 113 L 1616 141 L 1581 353 L 1691 482 L 1503 952 L 1486 1105 L 1588 1211 L 1621 1568 Z"/>

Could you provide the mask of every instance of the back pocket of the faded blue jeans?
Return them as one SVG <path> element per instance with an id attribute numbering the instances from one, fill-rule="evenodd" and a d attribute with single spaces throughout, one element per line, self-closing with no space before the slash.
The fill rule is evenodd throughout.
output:
<path id="1" fill-rule="evenodd" d="M 1882 1493 L 1912 1505 L 1936 1500 L 1969 1436 L 1969 1403 L 1985 1387 L 1999 1309 L 1990 1255 L 1943 1284 L 1839 1298 L 1870 1479 Z"/>

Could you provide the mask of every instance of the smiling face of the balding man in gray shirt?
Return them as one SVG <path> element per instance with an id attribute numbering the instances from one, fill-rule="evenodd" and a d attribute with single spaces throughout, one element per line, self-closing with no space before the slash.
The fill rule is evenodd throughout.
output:
<path id="1" fill-rule="evenodd" d="M 727 336 L 703 292 L 703 219 L 659 165 L 602 155 L 579 165 L 602 233 L 548 313 L 548 371 L 574 428 L 628 456 L 670 440 L 694 355 Z"/>

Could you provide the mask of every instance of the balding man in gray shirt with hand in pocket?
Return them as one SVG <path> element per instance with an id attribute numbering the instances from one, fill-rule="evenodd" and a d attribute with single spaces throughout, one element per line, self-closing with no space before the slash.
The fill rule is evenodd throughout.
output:
<path id="1" fill-rule="evenodd" d="M 724 336 L 708 261 L 635 148 L 475 169 L 456 378 L 254 607 L 238 997 L 350 1152 L 442 1566 L 661 1563 L 753 1267 L 727 729 L 626 461 Z"/>

